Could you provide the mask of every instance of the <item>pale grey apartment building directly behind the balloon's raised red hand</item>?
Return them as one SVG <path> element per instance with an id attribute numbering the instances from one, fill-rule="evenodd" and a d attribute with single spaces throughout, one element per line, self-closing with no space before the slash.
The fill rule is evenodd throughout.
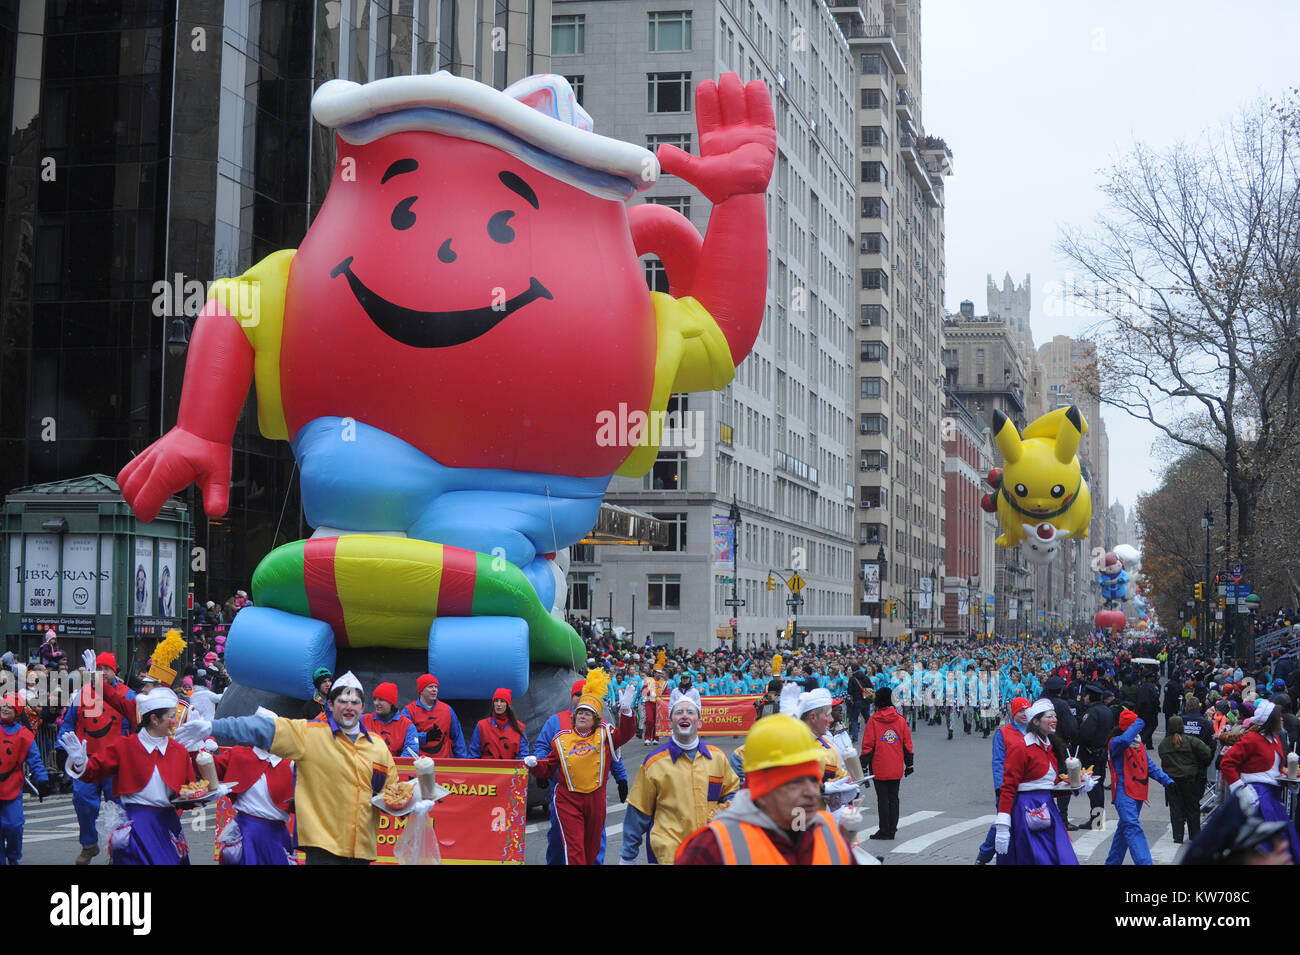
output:
<path id="1" fill-rule="evenodd" d="M 679 396 L 698 425 L 690 453 L 662 452 L 645 478 L 615 478 L 611 503 L 670 525 L 670 544 L 578 547 L 569 609 L 610 615 L 638 635 L 716 647 L 737 621 L 741 646 L 772 641 L 789 594 L 768 572 L 807 581 L 797 625 L 846 642 L 854 603 L 854 61 L 822 4 L 788 0 L 554 0 L 552 71 L 580 91 L 595 129 L 655 148 L 697 152 L 694 90 L 724 71 L 772 94 L 777 157 L 768 209 L 768 301 L 753 353 L 723 392 Z M 710 204 L 664 175 L 645 201 L 671 205 L 705 230 Z M 647 281 L 666 288 L 663 266 Z M 714 567 L 734 498 L 741 525 L 732 567 Z M 611 611 L 612 608 L 612 611 Z"/>

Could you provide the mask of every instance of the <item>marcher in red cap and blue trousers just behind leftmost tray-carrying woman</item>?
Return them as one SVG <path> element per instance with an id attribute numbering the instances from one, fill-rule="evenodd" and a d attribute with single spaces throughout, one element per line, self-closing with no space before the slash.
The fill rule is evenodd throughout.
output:
<path id="1" fill-rule="evenodd" d="M 64 733 L 74 733 L 87 755 L 98 756 L 114 741 L 121 739 L 134 729 L 135 694 L 117 678 L 117 659 L 112 654 L 95 656 L 90 650 L 82 654 L 82 663 L 88 674 L 96 674 L 99 681 L 87 680 L 77 691 L 64 717 Z M 98 690 L 96 690 L 98 685 Z M 60 745 L 61 750 L 66 750 Z M 113 798 L 113 781 L 103 780 L 91 783 L 84 780 L 73 781 L 73 808 L 81 826 L 81 854 L 78 865 L 88 865 L 99 855 L 99 834 L 95 821 L 104 799 Z"/>

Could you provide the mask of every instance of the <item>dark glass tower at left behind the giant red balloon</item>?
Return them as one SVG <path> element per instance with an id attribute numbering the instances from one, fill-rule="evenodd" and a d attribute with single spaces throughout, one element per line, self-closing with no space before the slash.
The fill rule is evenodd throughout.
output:
<path id="1" fill-rule="evenodd" d="M 0 0 L 0 494 L 116 474 L 174 422 L 178 316 L 155 283 L 302 242 L 334 164 L 317 86 L 438 69 L 504 86 L 549 52 L 550 0 Z M 194 507 L 200 600 L 303 535 L 289 447 L 251 411 L 229 512 Z"/>

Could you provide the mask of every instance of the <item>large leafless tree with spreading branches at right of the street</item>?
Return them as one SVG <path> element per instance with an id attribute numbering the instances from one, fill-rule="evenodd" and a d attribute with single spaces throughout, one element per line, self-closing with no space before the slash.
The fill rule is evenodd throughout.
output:
<path id="1" fill-rule="evenodd" d="M 1058 244 L 1091 279 L 1076 301 L 1105 316 L 1079 385 L 1219 464 L 1251 564 L 1260 495 L 1300 439 L 1297 101 L 1196 146 L 1136 146 L 1096 229 Z"/>

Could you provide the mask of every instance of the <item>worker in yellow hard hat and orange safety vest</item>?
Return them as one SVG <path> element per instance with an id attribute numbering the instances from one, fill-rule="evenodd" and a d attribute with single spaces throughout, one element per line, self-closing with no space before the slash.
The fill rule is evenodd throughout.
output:
<path id="1" fill-rule="evenodd" d="M 677 865 L 857 865 L 822 808 L 822 746 L 793 716 L 757 721 L 745 737 L 748 789 L 677 850 Z"/>

